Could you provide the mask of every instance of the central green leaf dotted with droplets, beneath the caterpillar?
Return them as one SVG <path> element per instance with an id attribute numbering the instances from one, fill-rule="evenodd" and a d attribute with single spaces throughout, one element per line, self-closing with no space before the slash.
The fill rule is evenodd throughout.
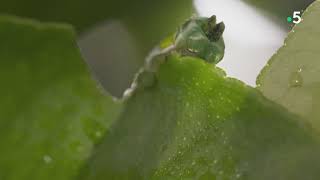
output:
<path id="1" fill-rule="evenodd" d="M 213 65 L 170 55 L 136 83 L 80 179 L 320 177 L 313 131 Z"/>

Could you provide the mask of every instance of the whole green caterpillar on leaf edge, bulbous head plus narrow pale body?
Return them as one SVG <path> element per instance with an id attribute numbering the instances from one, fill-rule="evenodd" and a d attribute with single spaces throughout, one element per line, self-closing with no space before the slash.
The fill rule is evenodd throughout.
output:
<path id="1" fill-rule="evenodd" d="M 174 36 L 166 38 L 149 54 L 146 69 L 156 70 L 164 57 L 172 52 L 217 64 L 224 56 L 224 30 L 224 23 L 217 24 L 216 16 L 191 18 L 178 28 Z"/>

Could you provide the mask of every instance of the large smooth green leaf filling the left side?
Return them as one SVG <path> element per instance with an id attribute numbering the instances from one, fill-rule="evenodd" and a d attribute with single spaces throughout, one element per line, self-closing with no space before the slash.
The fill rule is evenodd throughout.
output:
<path id="1" fill-rule="evenodd" d="M 0 179 L 75 177 L 120 104 L 104 95 L 66 25 L 0 16 Z"/>

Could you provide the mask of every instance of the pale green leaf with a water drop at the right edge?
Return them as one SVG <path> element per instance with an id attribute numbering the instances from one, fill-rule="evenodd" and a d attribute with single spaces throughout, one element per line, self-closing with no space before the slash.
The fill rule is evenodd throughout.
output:
<path id="1" fill-rule="evenodd" d="M 320 130 L 320 1 L 304 13 L 257 79 L 259 90 Z"/>

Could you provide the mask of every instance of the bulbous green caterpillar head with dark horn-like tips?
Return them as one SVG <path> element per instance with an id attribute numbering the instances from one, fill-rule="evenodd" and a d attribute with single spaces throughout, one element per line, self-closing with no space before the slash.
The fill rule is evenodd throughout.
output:
<path id="1" fill-rule="evenodd" d="M 178 29 L 174 41 L 176 50 L 216 64 L 224 56 L 224 29 L 223 22 L 217 24 L 216 16 L 192 18 Z"/>

